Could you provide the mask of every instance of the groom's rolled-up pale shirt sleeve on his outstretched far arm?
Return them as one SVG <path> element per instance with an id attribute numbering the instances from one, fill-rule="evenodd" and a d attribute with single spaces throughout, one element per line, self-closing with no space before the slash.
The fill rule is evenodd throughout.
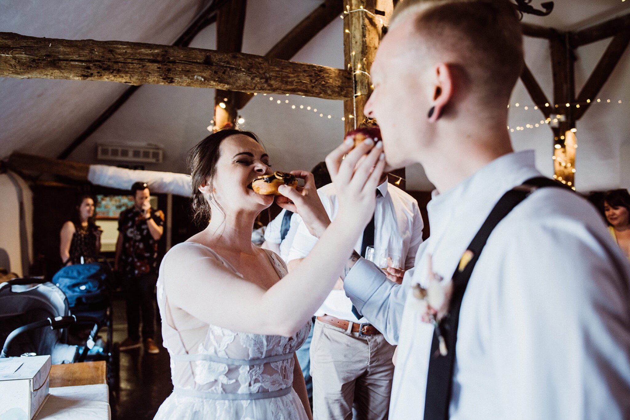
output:
<path id="1" fill-rule="evenodd" d="M 360 258 L 346 275 L 343 288 L 358 312 L 382 332 L 389 344 L 398 344 L 404 301 L 414 269 L 406 271 L 403 284 L 387 280 L 383 271 Z"/>

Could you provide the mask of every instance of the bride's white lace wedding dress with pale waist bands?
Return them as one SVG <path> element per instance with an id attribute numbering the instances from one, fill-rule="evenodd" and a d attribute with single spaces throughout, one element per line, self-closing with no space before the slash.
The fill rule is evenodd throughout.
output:
<path id="1" fill-rule="evenodd" d="M 238 271 L 210 248 L 193 242 L 195 253 L 210 253 Z M 200 250 L 198 247 L 202 247 Z M 287 273 L 284 261 L 267 251 L 278 276 Z M 164 400 L 155 419 L 305 420 L 302 402 L 292 388 L 294 353 L 309 335 L 310 322 L 294 336 L 263 336 L 204 324 L 190 316 L 175 329 L 163 288 L 165 256 L 157 281 L 164 347 L 171 356 L 173 394 Z M 190 343 L 193 343 L 191 346 Z M 185 345 L 186 344 L 186 345 Z M 186 351 L 186 347 L 190 351 Z"/>

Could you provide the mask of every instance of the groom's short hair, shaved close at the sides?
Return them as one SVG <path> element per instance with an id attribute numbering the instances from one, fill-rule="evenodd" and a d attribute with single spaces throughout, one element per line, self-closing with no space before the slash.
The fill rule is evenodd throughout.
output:
<path id="1" fill-rule="evenodd" d="M 523 35 L 508 0 L 404 0 L 390 28 L 413 18 L 418 42 L 459 57 L 484 99 L 509 100 L 523 68 Z"/>

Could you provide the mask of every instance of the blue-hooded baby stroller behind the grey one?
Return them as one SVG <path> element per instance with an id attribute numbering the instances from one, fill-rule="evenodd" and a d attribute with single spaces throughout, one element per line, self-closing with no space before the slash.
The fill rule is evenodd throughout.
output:
<path id="1" fill-rule="evenodd" d="M 118 343 L 113 343 L 112 282 L 112 269 L 105 259 L 102 263 L 66 266 L 52 278 L 52 283 L 66 295 L 72 315 L 94 318 L 106 327 L 106 341 L 97 339 L 96 345 L 87 353 L 86 360 L 107 362 L 107 383 L 112 395 L 116 395 L 120 350 Z"/>

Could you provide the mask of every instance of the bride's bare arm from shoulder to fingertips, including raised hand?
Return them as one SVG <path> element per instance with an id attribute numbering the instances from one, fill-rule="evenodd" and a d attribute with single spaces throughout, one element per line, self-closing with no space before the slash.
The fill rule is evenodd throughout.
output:
<path id="1" fill-rule="evenodd" d="M 382 149 L 378 147 L 363 158 L 370 147 L 369 144 L 357 147 L 348 153 L 341 167 L 336 166 L 340 210 L 311 253 L 289 275 L 265 291 L 235 275 L 209 253 L 192 253 L 190 247 L 174 248 L 165 258 L 168 261 L 163 262 L 169 304 L 203 322 L 233 331 L 295 334 L 328 296 L 374 212 L 374 191 L 384 160 L 379 158 Z M 341 162 L 347 152 L 340 147 L 329 159 Z M 301 199 L 291 198 L 299 209 Z"/>

